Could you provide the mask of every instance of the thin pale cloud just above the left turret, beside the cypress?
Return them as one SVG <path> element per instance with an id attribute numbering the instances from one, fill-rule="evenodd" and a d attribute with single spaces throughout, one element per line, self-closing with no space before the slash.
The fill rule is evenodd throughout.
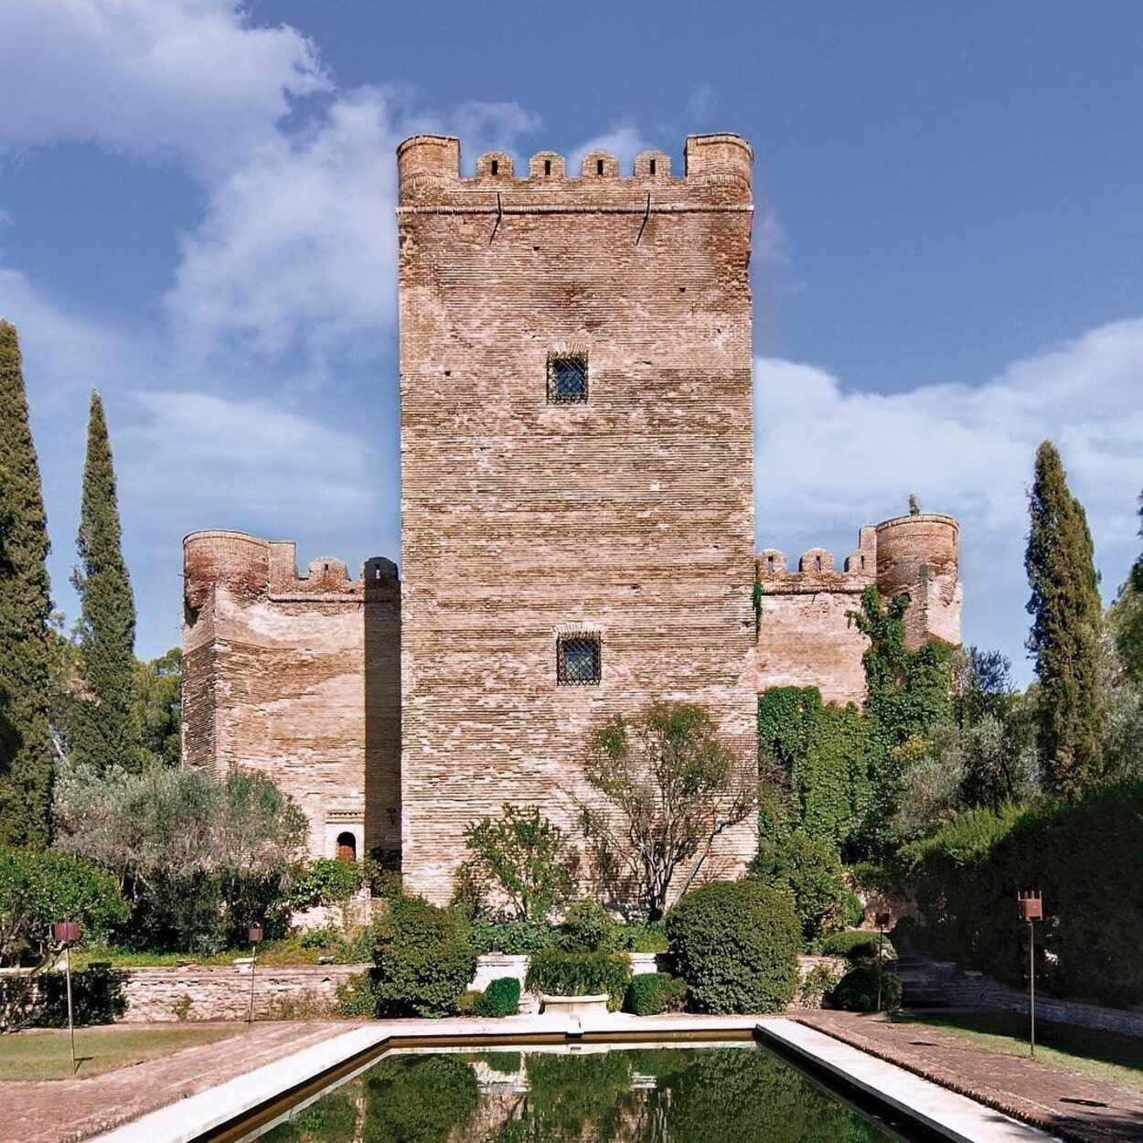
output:
<path id="1" fill-rule="evenodd" d="M 349 433 L 269 400 L 191 392 L 134 400 L 143 421 L 117 439 L 125 499 L 183 530 L 240 519 L 293 534 L 319 520 L 347 523 L 373 504 L 366 449 Z"/>

